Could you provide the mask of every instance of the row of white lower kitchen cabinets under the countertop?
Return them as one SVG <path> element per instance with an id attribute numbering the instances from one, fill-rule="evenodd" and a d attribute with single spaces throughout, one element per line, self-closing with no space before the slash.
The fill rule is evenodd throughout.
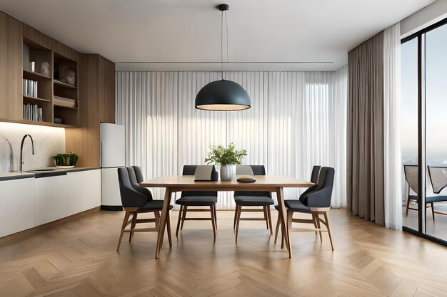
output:
<path id="1" fill-rule="evenodd" d="M 0 237 L 101 205 L 101 170 L 0 179 Z"/>

